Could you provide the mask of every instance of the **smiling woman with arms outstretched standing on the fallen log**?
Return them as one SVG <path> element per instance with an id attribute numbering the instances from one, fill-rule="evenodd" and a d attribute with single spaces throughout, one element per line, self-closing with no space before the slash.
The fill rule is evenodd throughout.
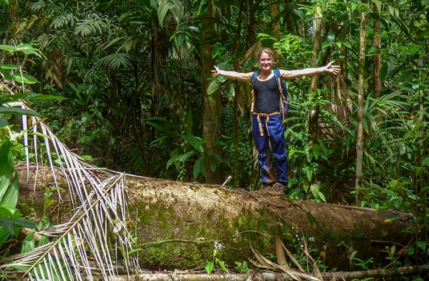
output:
<path id="1" fill-rule="evenodd" d="M 260 73 L 253 83 L 255 93 L 255 105 L 253 110 L 253 138 L 258 150 L 259 164 L 261 165 L 262 190 L 270 193 L 283 194 L 287 187 L 287 152 L 285 146 L 285 128 L 283 118 L 279 109 L 280 93 L 273 72 L 274 53 L 270 48 L 262 48 L 258 52 L 258 63 Z M 305 68 L 300 70 L 280 69 L 283 80 L 297 77 L 309 76 L 321 73 L 337 75 L 340 67 L 332 65 L 318 68 Z M 235 71 L 224 71 L 214 66 L 212 76 L 223 76 L 240 81 L 251 81 L 253 72 L 239 73 Z M 271 153 L 276 158 L 276 174 L 272 174 Z"/>

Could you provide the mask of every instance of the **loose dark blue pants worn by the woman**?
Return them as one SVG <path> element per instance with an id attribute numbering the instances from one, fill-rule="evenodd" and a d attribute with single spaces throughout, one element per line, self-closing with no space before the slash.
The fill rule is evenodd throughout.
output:
<path id="1" fill-rule="evenodd" d="M 259 119 L 259 120 L 258 120 Z M 267 122 L 268 121 L 268 122 Z M 259 152 L 259 164 L 261 165 L 261 180 L 263 184 L 271 185 L 280 183 L 287 186 L 287 152 L 285 140 L 285 128 L 280 114 L 267 116 L 260 113 L 253 114 L 253 138 L 256 149 Z M 276 158 L 276 175 L 272 174 L 273 153 Z"/>

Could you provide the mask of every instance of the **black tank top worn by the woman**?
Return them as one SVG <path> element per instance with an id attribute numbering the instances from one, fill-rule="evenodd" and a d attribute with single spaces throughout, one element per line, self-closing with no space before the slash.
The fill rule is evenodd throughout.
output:
<path id="1" fill-rule="evenodd" d="M 253 87 L 256 98 L 254 111 L 259 113 L 279 111 L 280 93 L 275 76 L 267 81 L 259 81 L 256 78 Z"/>

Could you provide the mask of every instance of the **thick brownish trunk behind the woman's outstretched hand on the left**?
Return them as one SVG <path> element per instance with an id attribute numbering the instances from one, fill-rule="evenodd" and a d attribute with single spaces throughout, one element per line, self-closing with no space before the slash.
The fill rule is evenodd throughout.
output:
<path id="1" fill-rule="evenodd" d="M 220 184 L 220 170 L 216 155 L 220 155 L 221 149 L 216 144 L 220 140 L 220 96 L 219 92 L 207 94 L 209 86 L 210 70 L 213 68 L 212 44 L 215 38 L 213 21 L 213 0 L 207 2 L 207 10 L 202 17 L 202 28 L 200 37 L 201 52 L 201 74 L 203 77 L 203 138 L 204 146 L 204 168 L 206 172 L 206 183 Z"/>

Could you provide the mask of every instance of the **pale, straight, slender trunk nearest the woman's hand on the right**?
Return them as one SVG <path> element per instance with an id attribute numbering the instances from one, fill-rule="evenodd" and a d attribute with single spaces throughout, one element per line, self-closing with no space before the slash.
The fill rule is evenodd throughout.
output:
<path id="1" fill-rule="evenodd" d="M 366 12 L 360 12 L 360 36 L 359 36 L 359 90 L 357 96 L 357 140 L 356 140 L 356 197 L 355 205 L 360 206 L 362 201 L 362 162 L 363 162 L 363 105 L 365 83 L 365 44 L 366 44 Z"/>

